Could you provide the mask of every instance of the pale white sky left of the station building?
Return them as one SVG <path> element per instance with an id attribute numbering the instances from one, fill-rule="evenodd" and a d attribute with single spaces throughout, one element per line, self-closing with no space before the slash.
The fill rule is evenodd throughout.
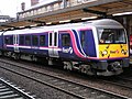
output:
<path id="1" fill-rule="evenodd" d="M 0 0 L 0 15 L 16 18 L 16 12 L 21 12 L 21 3 L 25 2 L 25 9 L 31 7 L 31 0 Z"/>

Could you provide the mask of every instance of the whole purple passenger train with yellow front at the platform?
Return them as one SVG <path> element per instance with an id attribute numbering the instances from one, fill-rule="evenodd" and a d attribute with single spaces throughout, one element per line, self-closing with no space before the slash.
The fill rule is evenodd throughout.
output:
<path id="1" fill-rule="evenodd" d="M 120 75 L 129 67 L 129 53 L 127 31 L 112 19 L 0 32 L 1 56 L 57 64 L 87 75 Z"/>

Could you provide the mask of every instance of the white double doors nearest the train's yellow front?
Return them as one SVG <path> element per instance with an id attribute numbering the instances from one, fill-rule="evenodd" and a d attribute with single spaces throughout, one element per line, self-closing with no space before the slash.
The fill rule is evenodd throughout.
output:
<path id="1" fill-rule="evenodd" d="M 48 33 L 48 55 L 58 57 L 58 32 L 52 31 Z"/>

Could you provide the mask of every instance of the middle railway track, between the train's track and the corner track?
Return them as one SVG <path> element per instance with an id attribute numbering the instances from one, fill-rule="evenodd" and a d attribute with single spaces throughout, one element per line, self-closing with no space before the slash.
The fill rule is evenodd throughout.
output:
<path id="1" fill-rule="evenodd" d="M 74 80 L 62 78 L 46 73 L 41 73 L 26 66 L 14 65 L 12 63 L 0 61 L 0 68 L 13 74 L 35 80 L 40 84 L 50 86 L 58 91 L 63 91 L 78 99 L 128 99 L 129 97 L 113 94 L 103 89 L 82 85 Z"/>

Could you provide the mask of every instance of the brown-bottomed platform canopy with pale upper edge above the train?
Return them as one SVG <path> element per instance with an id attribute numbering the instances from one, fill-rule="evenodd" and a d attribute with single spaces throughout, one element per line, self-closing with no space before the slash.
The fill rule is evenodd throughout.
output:
<path id="1" fill-rule="evenodd" d="M 1 23 L 0 30 L 18 26 L 76 22 L 91 18 L 108 18 L 128 12 L 132 14 L 132 0 L 56 0 L 19 12 L 16 19 Z"/>

